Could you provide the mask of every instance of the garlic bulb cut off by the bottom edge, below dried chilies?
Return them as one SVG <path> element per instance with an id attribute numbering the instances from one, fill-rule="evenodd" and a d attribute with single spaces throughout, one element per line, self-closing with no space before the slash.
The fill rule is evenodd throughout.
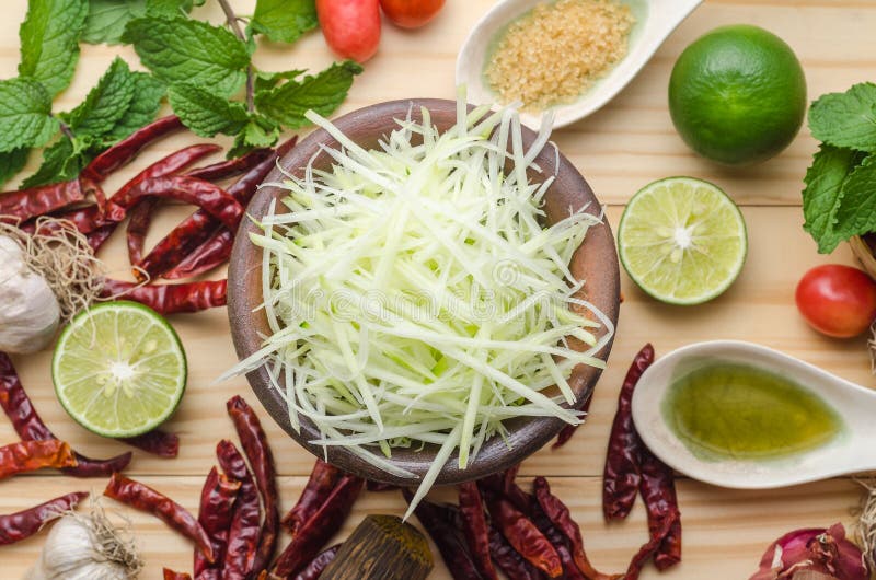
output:
<path id="1" fill-rule="evenodd" d="M 53 526 L 25 580 L 134 580 L 142 562 L 106 515 L 68 513 Z"/>

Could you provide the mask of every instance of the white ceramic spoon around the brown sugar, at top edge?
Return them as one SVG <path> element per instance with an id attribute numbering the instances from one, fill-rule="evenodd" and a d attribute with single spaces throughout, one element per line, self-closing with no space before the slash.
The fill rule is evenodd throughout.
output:
<path id="1" fill-rule="evenodd" d="M 470 103 L 481 105 L 496 102 L 496 94 L 484 79 L 491 43 L 504 26 L 545 1 L 550 0 L 502 0 L 474 25 L 457 57 L 457 84 L 468 86 Z M 554 109 L 554 127 L 583 119 L 611 101 L 645 66 L 669 33 L 703 0 L 622 1 L 631 7 L 636 18 L 626 57 L 577 101 L 557 106 Z M 541 118 L 537 115 L 522 114 L 520 118 L 535 129 L 541 125 Z"/>

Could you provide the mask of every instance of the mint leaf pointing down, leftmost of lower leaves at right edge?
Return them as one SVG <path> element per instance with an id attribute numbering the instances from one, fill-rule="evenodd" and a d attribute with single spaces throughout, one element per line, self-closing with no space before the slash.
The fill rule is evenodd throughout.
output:
<path id="1" fill-rule="evenodd" d="M 803 190 L 803 229 L 818 242 L 821 254 L 830 254 L 843 241 L 834 230 L 843 198 L 843 184 L 863 156 L 851 149 L 822 144 L 806 171 Z"/>

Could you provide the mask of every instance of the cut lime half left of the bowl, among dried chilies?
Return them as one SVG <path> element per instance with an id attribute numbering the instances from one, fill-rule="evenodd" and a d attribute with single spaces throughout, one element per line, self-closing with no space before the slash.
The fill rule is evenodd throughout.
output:
<path id="1" fill-rule="evenodd" d="M 185 391 L 185 352 L 153 310 L 107 302 L 80 313 L 61 333 L 51 379 L 58 401 L 82 427 L 132 437 L 176 409 Z"/>

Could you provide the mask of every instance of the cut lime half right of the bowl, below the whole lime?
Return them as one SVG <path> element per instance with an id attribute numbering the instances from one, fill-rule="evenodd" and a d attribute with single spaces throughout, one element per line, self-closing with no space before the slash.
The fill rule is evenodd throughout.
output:
<path id="1" fill-rule="evenodd" d="M 670 304 L 700 304 L 724 292 L 746 260 L 739 208 L 719 188 L 669 177 L 641 189 L 618 230 L 621 264 L 639 288 Z"/>

